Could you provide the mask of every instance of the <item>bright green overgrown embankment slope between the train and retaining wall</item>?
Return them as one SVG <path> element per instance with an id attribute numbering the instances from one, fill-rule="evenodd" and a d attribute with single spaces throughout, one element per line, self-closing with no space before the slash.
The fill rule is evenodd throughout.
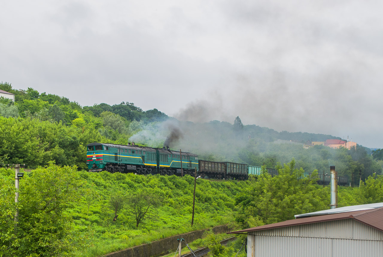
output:
<path id="1" fill-rule="evenodd" d="M 98 256 L 134 245 L 148 243 L 196 229 L 233 221 L 234 196 L 246 187 L 246 181 L 197 180 L 195 218 L 190 226 L 194 178 L 184 176 L 142 176 L 133 173 L 88 173 L 80 171 L 86 184 L 82 202 L 70 210 L 76 234 L 82 238 L 74 256 Z M 136 228 L 135 217 L 128 205 L 112 222 L 114 211 L 109 199 L 113 194 L 128 197 L 142 188 L 164 198 L 156 209 L 155 220 L 145 220 Z M 89 208 L 88 208 L 89 204 Z M 82 250 L 81 250 L 82 249 Z"/>

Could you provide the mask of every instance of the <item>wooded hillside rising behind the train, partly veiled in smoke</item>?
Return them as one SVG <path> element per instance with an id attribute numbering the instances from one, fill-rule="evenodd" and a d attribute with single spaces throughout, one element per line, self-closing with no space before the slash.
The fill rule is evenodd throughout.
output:
<path id="1" fill-rule="evenodd" d="M 15 90 L 7 82 L 1 83 L 0 89 L 15 94 L 15 103 L 0 99 L 0 157 L 5 164 L 25 163 L 28 168 L 36 168 L 55 161 L 58 165 L 85 169 L 88 143 L 135 142 L 162 147 L 168 139 L 170 148 L 196 153 L 200 159 L 274 168 L 295 158 L 296 165 L 308 172 L 335 165 L 339 175 L 351 178 L 352 173 L 358 174 L 362 169 L 363 180 L 382 172 L 380 150 L 371 155 L 368 148 L 360 145 L 347 150 L 320 145 L 304 149 L 299 144 L 337 138 L 331 135 L 277 132 L 243 125 L 239 117 L 233 117 L 234 124 L 217 120 L 180 122 L 157 109 L 143 111 L 128 101 L 82 107 L 66 97 L 32 88 Z M 176 138 L 169 141 L 170 134 Z"/>

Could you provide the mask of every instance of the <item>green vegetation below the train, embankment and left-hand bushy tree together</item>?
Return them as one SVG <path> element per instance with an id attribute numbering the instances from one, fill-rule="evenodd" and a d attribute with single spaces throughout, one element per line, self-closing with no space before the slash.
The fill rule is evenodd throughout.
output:
<path id="1" fill-rule="evenodd" d="M 237 192 L 244 181 L 197 180 L 190 226 L 194 178 L 88 173 L 49 164 L 25 172 L 20 180 L 19 219 L 13 169 L 0 169 L 0 256 L 99 256 L 144 242 L 234 218 Z M 134 196 L 141 196 L 137 198 Z M 118 208 L 114 200 L 124 204 Z M 140 216 L 137 210 L 149 209 Z M 118 214 L 118 218 L 114 217 Z M 141 213 L 142 214 L 142 213 Z"/>

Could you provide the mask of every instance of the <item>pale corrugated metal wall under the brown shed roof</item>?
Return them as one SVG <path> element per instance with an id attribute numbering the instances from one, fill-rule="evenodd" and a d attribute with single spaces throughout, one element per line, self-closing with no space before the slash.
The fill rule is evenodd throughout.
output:
<path id="1" fill-rule="evenodd" d="M 383 232 L 352 219 L 250 233 L 247 257 L 375 257 L 383 255 Z M 251 248 L 254 249 L 254 255 L 251 254 Z"/>

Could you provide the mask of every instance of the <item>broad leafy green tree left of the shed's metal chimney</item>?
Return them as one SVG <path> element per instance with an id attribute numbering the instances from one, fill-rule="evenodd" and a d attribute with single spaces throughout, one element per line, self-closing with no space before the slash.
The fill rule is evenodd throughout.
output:
<path id="1" fill-rule="evenodd" d="M 285 221 L 295 214 L 328 208 L 326 191 L 315 184 L 316 171 L 311 177 L 303 177 L 304 171 L 295 168 L 295 160 L 277 169 L 279 175 L 272 177 L 262 166 L 262 175 L 250 178 L 250 187 L 236 196 L 239 207 L 236 220 L 243 226 Z"/>

